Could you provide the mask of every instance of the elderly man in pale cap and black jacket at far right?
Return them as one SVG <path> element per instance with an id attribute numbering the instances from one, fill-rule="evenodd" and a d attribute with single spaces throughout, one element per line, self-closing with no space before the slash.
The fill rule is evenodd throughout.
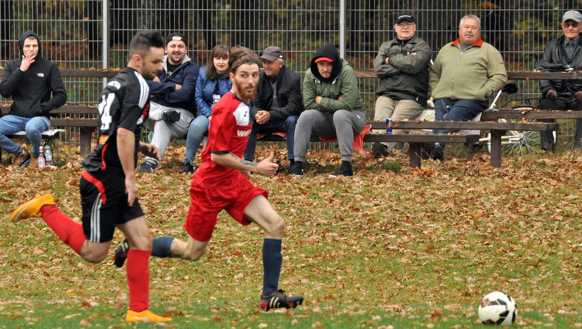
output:
<path id="1" fill-rule="evenodd" d="M 580 50 L 580 33 L 582 32 L 582 14 L 568 10 L 562 17 L 563 36 L 550 41 L 542 59 L 535 64 L 535 69 L 542 71 L 582 70 L 582 51 Z M 540 80 L 540 109 L 582 109 L 582 83 L 580 80 Z M 553 119 L 540 119 L 543 122 L 555 122 Z M 556 140 L 552 132 L 540 132 L 541 148 L 556 150 Z M 580 148 L 582 138 L 582 120 L 576 121 L 574 147 Z"/>

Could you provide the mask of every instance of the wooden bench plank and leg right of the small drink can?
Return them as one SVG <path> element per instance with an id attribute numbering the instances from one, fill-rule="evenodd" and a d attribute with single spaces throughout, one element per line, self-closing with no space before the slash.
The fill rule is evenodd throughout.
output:
<path id="1" fill-rule="evenodd" d="M 491 121 L 397 121 L 394 129 L 450 129 L 491 131 L 491 165 L 501 167 L 501 136 L 508 130 L 546 132 L 558 130 L 558 123 Z"/>

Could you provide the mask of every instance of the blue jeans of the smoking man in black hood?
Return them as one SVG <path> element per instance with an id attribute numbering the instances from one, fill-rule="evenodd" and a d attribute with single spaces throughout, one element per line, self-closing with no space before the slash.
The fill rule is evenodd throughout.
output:
<path id="1" fill-rule="evenodd" d="M 32 147 L 31 153 L 37 158 L 40 153 L 38 148 L 42 142 L 41 133 L 51 126 L 51 121 L 46 116 L 35 116 L 34 118 L 23 118 L 16 115 L 5 115 L 0 118 L 0 147 L 8 153 L 22 153 L 22 148 L 5 135 L 26 131 Z"/>

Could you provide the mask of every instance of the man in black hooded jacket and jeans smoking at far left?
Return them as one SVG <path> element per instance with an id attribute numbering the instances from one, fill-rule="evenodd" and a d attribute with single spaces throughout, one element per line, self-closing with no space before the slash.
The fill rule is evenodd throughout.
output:
<path id="1" fill-rule="evenodd" d="M 51 125 L 49 112 L 65 104 L 67 92 L 55 63 L 42 58 L 36 33 L 24 32 L 18 45 L 20 58 L 6 63 L 0 82 L 0 94 L 13 101 L 8 115 L 0 118 L 0 147 L 16 155 L 12 161 L 15 167 L 38 168 L 41 133 Z M 22 130 L 30 140 L 32 158 L 6 137 Z"/>

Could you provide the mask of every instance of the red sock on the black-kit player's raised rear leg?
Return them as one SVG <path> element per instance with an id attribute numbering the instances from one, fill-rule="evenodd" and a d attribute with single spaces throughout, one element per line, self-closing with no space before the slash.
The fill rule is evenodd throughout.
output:
<path id="1" fill-rule="evenodd" d="M 56 206 L 42 206 L 42 219 L 55 231 L 56 235 L 69 245 L 76 253 L 81 252 L 81 247 L 87 238 L 83 232 L 83 225 L 73 221 Z"/>

